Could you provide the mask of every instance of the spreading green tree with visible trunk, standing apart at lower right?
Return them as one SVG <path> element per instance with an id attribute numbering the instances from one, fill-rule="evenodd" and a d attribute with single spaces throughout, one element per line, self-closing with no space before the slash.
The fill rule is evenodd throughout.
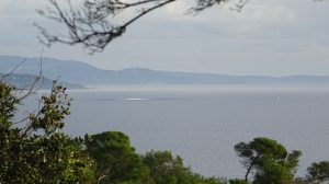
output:
<path id="1" fill-rule="evenodd" d="M 254 138 L 248 143 L 237 143 L 235 150 L 247 169 L 246 182 L 249 174 L 253 173 L 256 184 L 294 183 L 300 151 L 288 153 L 284 146 L 264 137 Z"/>

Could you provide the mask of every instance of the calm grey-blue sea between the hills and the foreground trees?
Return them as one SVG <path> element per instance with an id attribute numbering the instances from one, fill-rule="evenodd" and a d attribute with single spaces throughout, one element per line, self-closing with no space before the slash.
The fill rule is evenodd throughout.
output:
<path id="1" fill-rule="evenodd" d="M 172 150 L 205 175 L 242 176 L 234 146 L 265 136 L 329 160 L 329 88 L 107 87 L 70 91 L 71 135 L 120 130 L 138 152 Z"/>

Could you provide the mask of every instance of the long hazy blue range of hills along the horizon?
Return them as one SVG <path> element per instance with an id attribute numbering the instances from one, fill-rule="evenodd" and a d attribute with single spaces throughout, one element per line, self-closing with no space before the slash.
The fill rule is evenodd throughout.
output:
<path id="1" fill-rule="evenodd" d="M 0 56 L 0 72 L 12 70 L 23 57 Z M 39 58 L 29 58 L 15 73 L 36 74 Z M 102 70 L 73 60 L 43 58 L 43 73 L 48 79 L 59 79 L 81 84 L 329 84 L 328 76 L 227 76 L 215 73 L 157 71 L 146 68 Z"/>

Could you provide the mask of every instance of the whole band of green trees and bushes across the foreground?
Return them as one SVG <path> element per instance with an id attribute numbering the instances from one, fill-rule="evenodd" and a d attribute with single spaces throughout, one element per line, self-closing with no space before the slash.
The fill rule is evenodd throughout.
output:
<path id="1" fill-rule="evenodd" d="M 138 154 L 123 133 L 72 138 L 63 131 L 70 114 L 66 89 L 54 85 L 39 110 L 15 122 L 22 95 L 0 82 L 0 184 L 319 184 L 329 182 L 329 161 L 316 162 L 295 177 L 300 151 L 287 152 L 275 140 L 259 137 L 235 146 L 246 168 L 243 179 L 205 177 L 170 151 Z M 218 163 L 219 164 L 219 163 Z"/>

